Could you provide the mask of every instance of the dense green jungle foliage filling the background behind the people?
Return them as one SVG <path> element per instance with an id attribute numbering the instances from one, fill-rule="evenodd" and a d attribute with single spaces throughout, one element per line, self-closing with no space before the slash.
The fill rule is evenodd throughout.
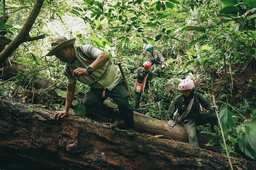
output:
<path id="1" fill-rule="evenodd" d="M 34 0 L 1 0 L 1 17 L 8 17 L 6 23 L 0 21 L 1 36 L 13 40 L 33 5 Z M 113 62 L 121 62 L 134 97 L 133 72 L 149 60 L 145 46 L 152 44 L 168 67 L 152 82 L 148 102 L 141 103 L 139 111 L 167 121 L 168 106 L 180 93 L 179 81 L 191 78 L 196 91 L 220 108 L 223 131 L 216 127 L 218 132 L 212 133 L 208 126 L 198 127 L 213 136 L 209 145 L 221 144 L 223 152 L 234 155 L 241 154 L 239 146 L 255 159 L 255 19 L 255 0 L 45 0 L 30 35 L 45 34 L 46 38 L 25 42 L 13 52 L 7 61 L 19 63 L 27 71 L 8 81 L 1 79 L 0 95 L 24 98 L 33 93 L 27 102 L 63 109 L 64 64 L 45 54 L 55 37 L 66 36 L 76 38 L 76 46 L 93 44 Z M 51 87 L 34 89 L 36 75 L 49 78 Z M 30 84 L 24 86 L 25 80 Z M 47 94 L 50 88 L 55 88 L 59 97 Z M 79 95 L 89 87 L 78 83 L 76 89 L 73 111 L 86 117 Z M 130 102 L 134 105 L 134 99 Z"/>

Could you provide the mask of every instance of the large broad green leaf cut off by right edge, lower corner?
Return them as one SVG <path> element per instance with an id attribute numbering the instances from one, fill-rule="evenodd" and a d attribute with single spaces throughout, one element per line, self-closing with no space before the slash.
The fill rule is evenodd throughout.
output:
<path id="1" fill-rule="evenodd" d="M 237 144 L 243 153 L 252 159 L 256 159 L 256 118 L 237 126 L 236 133 Z"/>

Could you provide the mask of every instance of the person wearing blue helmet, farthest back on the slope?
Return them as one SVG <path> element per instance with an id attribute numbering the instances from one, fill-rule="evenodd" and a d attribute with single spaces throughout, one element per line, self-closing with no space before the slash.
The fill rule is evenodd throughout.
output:
<path id="1" fill-rule="evenodd" d="M 167 63 L 158 50 L 154 50 L 151 44 L 146 46 L 146 51 L 151 53 L 151 63 L 155 64 L 155 69 L 153 70 L 154 77 L 160 77 L 159 71 L 167 66 Z"/>

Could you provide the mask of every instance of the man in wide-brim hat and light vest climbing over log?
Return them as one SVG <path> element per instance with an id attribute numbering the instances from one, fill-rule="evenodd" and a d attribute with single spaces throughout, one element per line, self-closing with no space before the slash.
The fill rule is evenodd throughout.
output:
<path id="1" fill-rule="evenodd" d="M 83 100 L 83 105 L 107 118 L 112 118 L 115 128 L 121 119 L 127 128 L 127 135 L 134 136 L 133 108 L 128 102 L 128 91 L 118 66 L 109 61 L 109 56 L 92 45 L 74 47 L 74 39 L 57 37 L 52 41 L 52 50 L 47 56 L 55 55 L 66 65 L 62 73 L 67 77 L 67 95 L 64 111 L 55 111 L 54 119 L 68 115 L 74 99 L 76 81 L 91 87 Z M 112 98 L 119 111 L 103 104 L 105 98 Z"/>

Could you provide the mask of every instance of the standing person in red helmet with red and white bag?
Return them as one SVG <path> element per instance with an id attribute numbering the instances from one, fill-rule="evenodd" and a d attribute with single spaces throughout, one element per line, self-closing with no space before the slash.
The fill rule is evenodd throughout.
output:
<path id="1" fill-rule="evenodd" d="M 139 67 L 135 70 L 133 78 L 135 81 L 135 106 L 134 110 L 138 110 L 140 107 L 141 93 L 148 94 L 148 87 L 151 79 L 153 79 L 153 73 L 151 70 L 151 62 L 145 61 L 143 67 Z M 146 102 L 145 95 L 142 96 L 142 100 Z"/>

